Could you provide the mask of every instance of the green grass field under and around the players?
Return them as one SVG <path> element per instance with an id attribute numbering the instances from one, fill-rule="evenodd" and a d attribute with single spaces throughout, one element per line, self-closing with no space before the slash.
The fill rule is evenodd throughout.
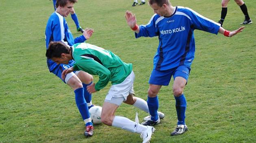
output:
<path id="1" fill-rule="evenodd" d="M 153 11 L 133 0 L 78 0 L 75 11 L 83 27 L 95 33 L 87 42 L 133 63 L 138 97 L 147 99 L 148 79 L 158 38 L 135 39 L 127 26 L 126 10 L 146 24 Z M 140 1 L 139 1 L 140 2 Z M 171 0 L 218 21 L 221 0 Z M 255 143 L 256 142 L 256 1 L 245 0 L 251 25 L 227 38 L 195 30 L 196 53 L 188 84 L 186 124 L 189 131 L 171 137 L 177 122 L 172 82 L 159 95 L 159 110 L 165 119 L 157 125 L 151 143 Z M 49 0 L 0 0 L 0 143 L 139 143 L 139 134 L 103 124 L 93 137 L 85 138 L 84 122 L 74 92 L 50 74 L 45 57 L 45 27 L 53 12 Z M 233 0 L 223 27 L 235 30 L 244 16 Z M 71 17 L 66 18 L 74 37 L 79 36 Z M 98 80 L 94 77 L 95 82 Z M 108 86 L 93 94 L 93 104 L 102 106 Z M 117 115 L 140 122 L 146 113 L 122 104 Z"/>

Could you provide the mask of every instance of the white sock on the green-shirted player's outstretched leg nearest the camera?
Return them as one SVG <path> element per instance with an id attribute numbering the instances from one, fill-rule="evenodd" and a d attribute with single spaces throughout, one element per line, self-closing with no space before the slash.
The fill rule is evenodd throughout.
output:
<path id="1" fill-rule="evenodd" d="M 143 126 L 122 116 L 115 116 L 112 122 L 112 126 L 137 133 L 141 133 L 142 131 L 147 130 L 147 126 Z"/>

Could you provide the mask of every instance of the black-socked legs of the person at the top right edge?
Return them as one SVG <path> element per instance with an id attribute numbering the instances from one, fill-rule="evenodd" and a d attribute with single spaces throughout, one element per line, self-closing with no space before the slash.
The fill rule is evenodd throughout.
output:
<path id="1" fill-rule="evenodd" d="M 228 13 L 228 2 L 230 0 L 222 0 L 221 1 L 221 19 L 219 20 L 219 23 L 221 24 L 221 27 L 223 25 L 224 19 Z M 243 21 L 243 23 L 240 24 L 251 24 L 252 20 L 249 17 L 248 11 L 247 11 L 247 6 L 245 5 L 245 3 L 243 2 L 243 0 L 234 0 L 236 2 L 237 5 L 240 6 L 241 11 L 243 12 L 243 14 L 245 15 L 245 20 Z"/>

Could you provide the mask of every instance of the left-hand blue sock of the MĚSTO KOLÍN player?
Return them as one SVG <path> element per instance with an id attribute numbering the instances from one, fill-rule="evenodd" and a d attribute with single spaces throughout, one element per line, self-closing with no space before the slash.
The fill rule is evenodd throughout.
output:
<path id="1" fill-rule="evenodd" d="M 158 120 L 158 114 L 157 114 L 157 110 L 158 110 L 158 97 L 148 97 L 147 100 L 148 103 L 148 109 L 150 111 L 150 115 L 151 115 L 151 120 L 152 121 L 157 121 Z"/>

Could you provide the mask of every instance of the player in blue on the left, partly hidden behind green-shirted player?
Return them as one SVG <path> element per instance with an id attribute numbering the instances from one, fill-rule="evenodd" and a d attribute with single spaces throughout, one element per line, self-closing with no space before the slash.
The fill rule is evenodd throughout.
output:
<path id="1" fill-rule="evenodd" d="M 93 33 L 93 29 L 88 29 L 86 32 L 77 38 L 73 38 L 64 17 L 73 11 L 76 0 L 57 0 L 56 11 L 49 17 L 46 25 L 46 49 L 51 41 L 61 41 L 69 46 L 78 42 L 84 42 L 89 39 Z M 61 73 L 64 69 L 72 67 L 75 61 L 70 60 L 68 64 L 57 64 L 51 59 L 47 59 L 49 71 L 61 78 Z M 62 78 L 61 78 L 62 79 Z M 68 84 L 75 93 L 76 105 L 80 111 L 82 119 L 85 122 L 85 136 L 93 135 L 93 124 L 91 122 L 89 108 L 93 106 L 91 103 L 91 94 L 87 92 L 87 85 L 91 84 L 93 77 L 85 71 L 74 71 L 67 74 L 63 82 Z"/>

